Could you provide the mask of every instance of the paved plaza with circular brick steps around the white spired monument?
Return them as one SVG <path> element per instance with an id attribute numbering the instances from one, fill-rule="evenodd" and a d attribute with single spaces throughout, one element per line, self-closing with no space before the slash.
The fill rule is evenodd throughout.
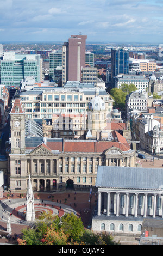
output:
<path id="1" fill-rule="evenodd" d="M 4 192 L 4 198 L 0 199 L 0 233 L 7 229 L 8 217 L 10 217 L 11 223 L 11 239 L 0 239 L 0 245 L 16 243 L 12 237 L 17 235 L 21 237 L 21 230 L 29 227 L 33 222 L 25 221 L 26 211 L 26 194 L 24 198 L 21 198 L 20 193 L 15 193 L 12 197 L 7 199 L 8 192 Z M 89 202 L 89 192 L 55 192 L 52 193 L 54 200 L 50 193 L 40 193 L 40 199 L 37 199 L 37 193 L 34 193 L 34 208 L 36 217 L 39 217 L 42 212 L 51 212 L 53 215 L 62 217 L 65 213 L 73 212 L 78 217 L 82 218 L 84 227 L 87 228 L 88 224 L 91 223 L 91 215 L 96 205 L 97 198 L 95 194 L 91 196 L 91 202 Z M 67 199 L 65 203 L 65 198 Z M 87 211 L 85 214 L 84 211 Z M 3 216 L 3 217 L 2 217 Z"/>

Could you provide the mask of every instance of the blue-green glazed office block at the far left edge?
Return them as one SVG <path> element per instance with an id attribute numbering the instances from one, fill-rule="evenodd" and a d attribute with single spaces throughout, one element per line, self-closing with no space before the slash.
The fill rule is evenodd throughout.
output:
<path id="1" fill-rule="evenodd" d="M 7 87 L 20 87 L 21 80 L 34 76 L 42 81 L 42 59 L 39 54 L 16 54 L 4 52 L 1 60 L 1 83 Z"/>

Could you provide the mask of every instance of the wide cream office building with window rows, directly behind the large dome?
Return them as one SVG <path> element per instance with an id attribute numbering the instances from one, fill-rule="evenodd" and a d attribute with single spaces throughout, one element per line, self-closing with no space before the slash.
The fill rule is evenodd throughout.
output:
<path id="1" fill-rule="evenodd" d="M 26 117 L 52 118 L 53 113 L 79 114 L 87 111 L 90 100 L 95 96 L 93 83 L 69 81 L 64 87 L 35 86 L 32 90 L 20 92 Z M 99 88 L 99 97 L 105 102 L 106 111 L 110 113 L 114 100 L 105 89 Z"/>

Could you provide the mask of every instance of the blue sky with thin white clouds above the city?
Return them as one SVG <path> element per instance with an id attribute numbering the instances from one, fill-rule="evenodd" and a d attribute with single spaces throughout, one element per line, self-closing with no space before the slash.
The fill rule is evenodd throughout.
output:
<path id="1" fill-rule="evenodd" d="M 163 43 L 163 0 L 0 0 L 1 42 Z"/>

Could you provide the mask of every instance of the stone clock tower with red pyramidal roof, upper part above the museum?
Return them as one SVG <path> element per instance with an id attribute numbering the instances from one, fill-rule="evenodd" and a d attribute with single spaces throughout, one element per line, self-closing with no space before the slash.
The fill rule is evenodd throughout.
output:
<path id="1" fill-rule="evenodd" d="M 25 147 L 25 112 L 20 98 L 15 98 L 10 112 L 11 154 L 24 154 Z"/>

